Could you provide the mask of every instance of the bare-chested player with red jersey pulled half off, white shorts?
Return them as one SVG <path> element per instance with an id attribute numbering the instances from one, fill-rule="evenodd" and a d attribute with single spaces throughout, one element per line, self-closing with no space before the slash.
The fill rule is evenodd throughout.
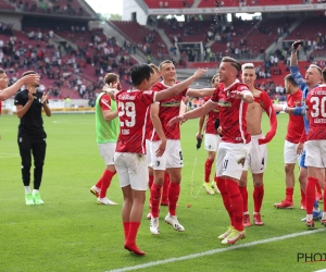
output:
<path id="1" fill-rule="evenodd" d="M 253 181 L 253 221 L 255 225 L 263 225 L 261 219 L 261 208 L 264 197 L 263 175 L 267 163 L 267 147 L 276 134 L 277 120 L 268 95 L 254 87 L 256 75 L 252 63 L 242 65 L 242 83 L 247 84 L 253 95 L 254 101 L 248 107 L 247 111 L 247 127 L 251 135 L 251 150 L 248 163 L 252 173 Z M 269 119 L 269 132 L 264 137 L 262 133 L 262 116 L 263 111 L 266 112 Z M 247 180 L 248 171 L 242 172 L 239 187 L 243 198 L 243 225 L 250 226 L 250 217 L 248 211 L 248 190 Z"/>

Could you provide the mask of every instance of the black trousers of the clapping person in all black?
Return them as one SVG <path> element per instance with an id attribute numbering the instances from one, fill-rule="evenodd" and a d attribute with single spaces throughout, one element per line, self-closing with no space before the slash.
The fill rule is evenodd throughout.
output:
<path id="1" fill-rule="evenodd" d="M 34 158 L 34 189 L 39 189 L 43 164 L 46 159 L 47 143 L 43 138 L 30 138 L 18 136 L 18 147 L 22 158 L 22 178 L 24 186 L 29 186 L 30 184 L 30 166 L 32 166 L 32 156 Z"/>

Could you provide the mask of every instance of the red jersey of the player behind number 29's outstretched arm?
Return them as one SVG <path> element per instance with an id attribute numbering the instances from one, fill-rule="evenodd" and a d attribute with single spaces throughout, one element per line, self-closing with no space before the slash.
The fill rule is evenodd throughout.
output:
<path id="1" fill-rule="evenodd" d="M 161 83 L 156 83 L 153 87 L 153 91 L 161 91 L 167 89 L 170 86 L 166 86 Z M 160 101 L 160 113 L 159 118 L 162 123 L 162 128 L 167 139 L 180 139 L 180 125 L 179 123 L 173 124 L 171 126 L 167 125 L 168 121 L 175 116 L 179 115 L 180 103 L 183 97 L 187 94 L 187 89 L 185 89 L 181 94 L 176 95 L 172 98 L 166 98 Z M 160 140 L 159 135 L 154 132 L 151 140 Z"/>

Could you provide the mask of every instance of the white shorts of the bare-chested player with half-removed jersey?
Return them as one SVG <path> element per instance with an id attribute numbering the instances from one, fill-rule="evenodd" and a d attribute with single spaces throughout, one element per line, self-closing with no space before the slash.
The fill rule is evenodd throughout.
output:
<path id="1" fill-rule="evenodd" d="M 263 134 L 260 135 L 251 135 L 251 149 L 248 156 L 248 160 L 246 160 L 247 169 L 248 166 L 251 170 L 252 174 L 261 174 L 264 173 L 267 163 L 267 146 L 259 145 L 259 139 L 264 138 Z"/>

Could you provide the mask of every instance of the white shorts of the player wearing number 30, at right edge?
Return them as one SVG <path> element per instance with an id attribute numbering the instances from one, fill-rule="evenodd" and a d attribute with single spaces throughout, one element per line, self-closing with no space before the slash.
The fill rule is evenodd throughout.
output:
<path id="1" fill-rule="evenodd" d="M 305 165 L 326 168 L 326 140 L 308 140 L 304 143 Z"/>

